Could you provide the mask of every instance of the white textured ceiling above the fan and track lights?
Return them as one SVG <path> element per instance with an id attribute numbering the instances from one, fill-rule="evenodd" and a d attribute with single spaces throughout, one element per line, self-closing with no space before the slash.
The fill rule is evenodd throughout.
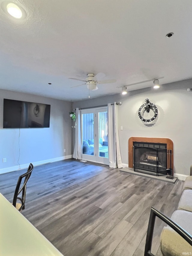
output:
<path id="1" fill-rule="evenodd" d="M 3 10 L 5 2 L 0 0 L 1 89 L 77 101 L 88 98 L 88 89 L 71 88 L 82 82 L 67 77 L 101 72 L 117 80 L 98 84 L 91 98 L 157 77 L 164 77 L 160 84 L 192 78 L 191 0 L 12 1 L 26 11 L 21 20 Z M 169 32 L 174 35 L 166 38 Z"/>

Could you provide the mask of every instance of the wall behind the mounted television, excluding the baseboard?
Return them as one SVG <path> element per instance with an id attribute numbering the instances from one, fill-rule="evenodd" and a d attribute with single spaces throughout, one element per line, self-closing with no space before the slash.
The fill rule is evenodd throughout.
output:
<path id="1" fill-rule="evenodd" d="M 49 128 L 3 129 L 3 99 L 50 104 Z M 70 102 L 0 89 L 0 173 L 71 157 Z M 20 157 L 19 157 L 20 145 Z M 64 149 L 66 152 L 64 153 Z M 7 162 L 3 163 L 3 158 Z M 19 158 L 19 161 L 18 161 Z M 18 162 L 19 164 L 18 164 Z"/>

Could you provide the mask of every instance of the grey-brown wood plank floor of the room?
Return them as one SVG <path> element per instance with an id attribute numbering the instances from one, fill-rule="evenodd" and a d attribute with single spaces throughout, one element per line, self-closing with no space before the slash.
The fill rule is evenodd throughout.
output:
<path id="1" fill-rule="evenodd" d="M 22 173 L 0 175 L 0 192 L 10 202 Z M 34 167 L 22 214 L 65 256 L 141 256 L 151 206 L 171 216 L 182 186 L 68 159 Z M 156 221 L 157 255 L 163 226 Z"/>

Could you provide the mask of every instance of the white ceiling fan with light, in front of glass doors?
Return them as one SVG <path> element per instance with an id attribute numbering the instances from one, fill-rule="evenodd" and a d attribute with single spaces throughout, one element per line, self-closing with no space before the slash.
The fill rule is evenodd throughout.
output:
<path id="1" fill-rule="evenodd" d="M 111 79 L 111 80 L 98 80 L 98 77 L 101 75 L 104 75 L 103 73 L 98 73 L 97 75 L 94 75 L 93 73 L 88 73 L 87 77 L 85 78 L 85 80 L 79 79 L 79 78 L 73 78 L 73 77 L 68 77 L 69 79 L 73 79 L 73 80 L 78 80 L 78 81 L 83 81 L 85 83 L 80 84 L 80 85 L 76 85 L 76 86 L 72 86 L 73 87 L 78 87 L 78 86 L 82 86 L 85 85 L 87 86 L 88 90 L 91 91 L 95 91 L 98 89 L 97 84 L 104 84 L 104 83 L 115 83 L 117 80 L 116 79 Z"/>

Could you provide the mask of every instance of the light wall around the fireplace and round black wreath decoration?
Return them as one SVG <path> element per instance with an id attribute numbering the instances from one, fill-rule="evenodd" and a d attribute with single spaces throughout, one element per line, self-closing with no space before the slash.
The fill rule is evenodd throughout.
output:
<path id="1" fill-rule="evenodd" d="M 129 92 L 122 96 L 111 95 L 100 99 L 74 102 L 75 107 L 92 107 L 122 101 L 118 107 L 118 129 L 123 164 L 128 164 L 128 139 L 135 137 L 167 137 L 174 144 L 174 172 L 189 175 L 192 163 L 192 80 Z M 154 125 L 145 125 L 138 116 L 139 107 L 149 98 L 158 107 Z M 123 126 L 123 131 L 120 130 Z"/>

